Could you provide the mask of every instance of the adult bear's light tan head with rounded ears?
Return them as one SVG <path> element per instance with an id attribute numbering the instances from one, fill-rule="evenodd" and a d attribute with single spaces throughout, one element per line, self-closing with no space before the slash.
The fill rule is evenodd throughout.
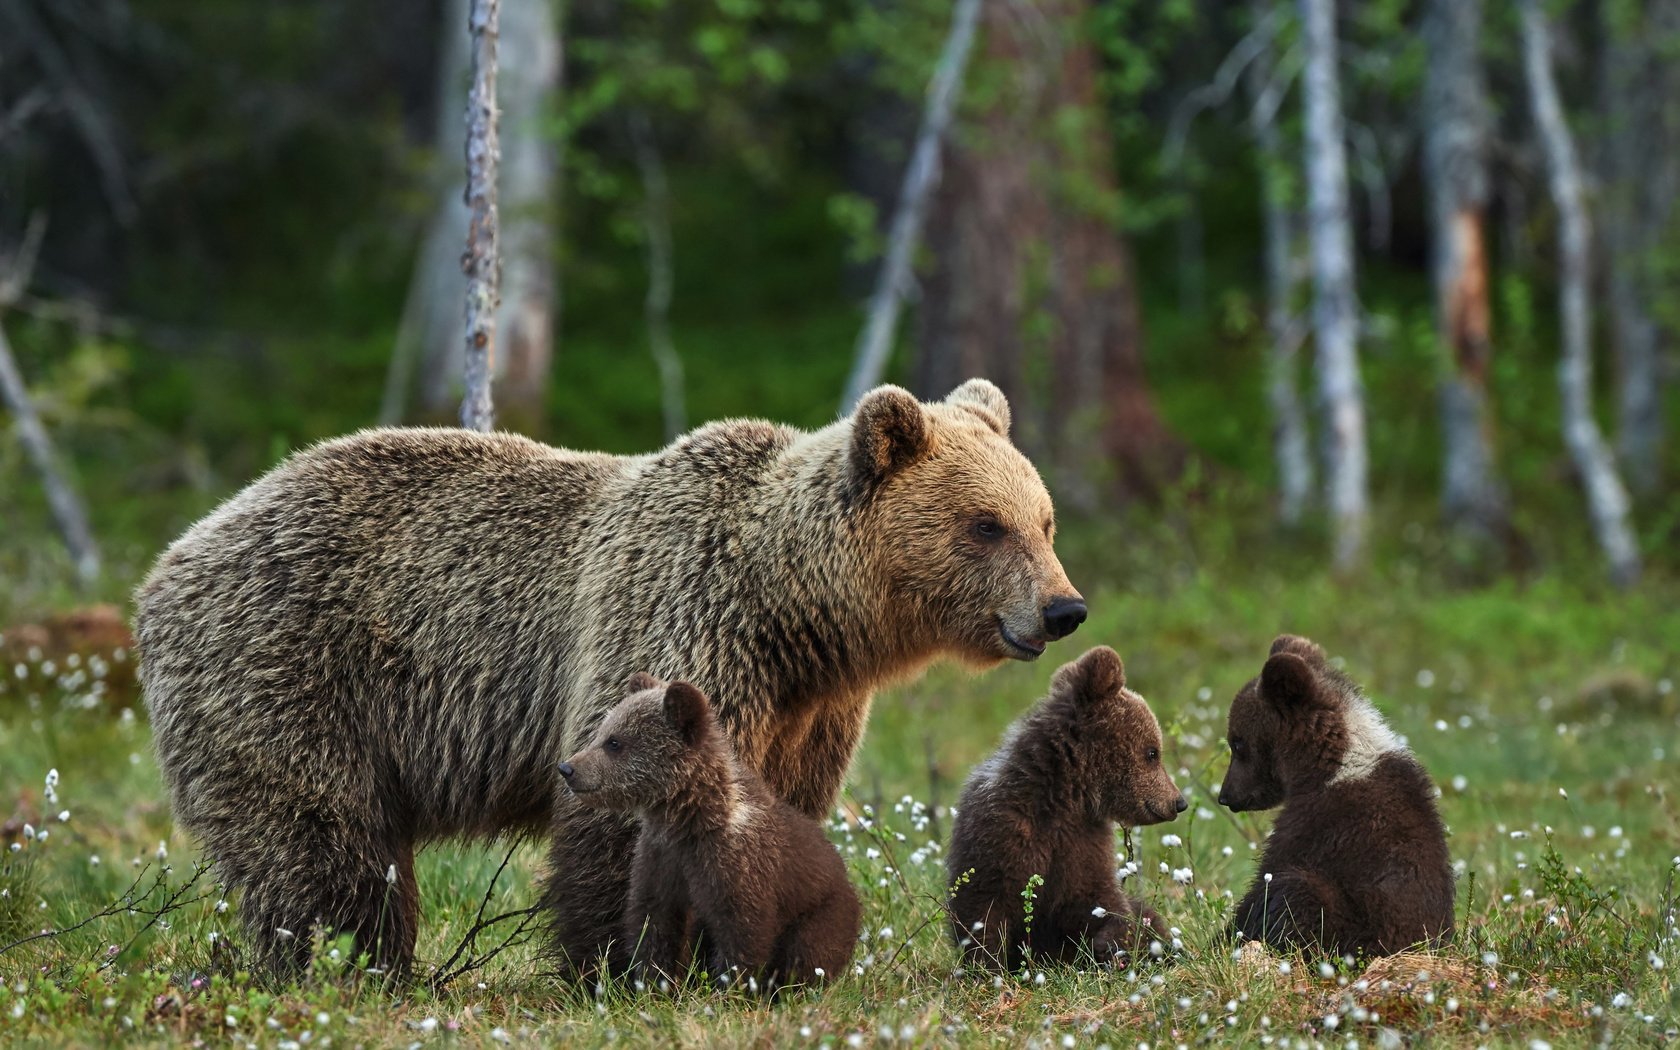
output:
<path id="1" fill-rule="evenodd" d="M 894 623 L 969 662 L 1033 660 L 1085 620 L 1057 561 L 1055 511 L 986 380 L 922 403 L 897 386 L 852 417 L 847 497 L 867 514 Z"/>

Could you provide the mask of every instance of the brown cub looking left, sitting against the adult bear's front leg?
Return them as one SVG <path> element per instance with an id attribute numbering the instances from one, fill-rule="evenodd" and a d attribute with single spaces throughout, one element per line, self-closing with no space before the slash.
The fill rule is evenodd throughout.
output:
<path id="1" fill-rule="evenodd" d="M 647 674 L 627 689 L 559 766 L 583 805 L 642 818 L 615 961 L 675 979 L 699 942 L 712 976 L 769 990 L 838 976 L 860 909 L 822 827 L 736 761 L 699 689 Z"/>

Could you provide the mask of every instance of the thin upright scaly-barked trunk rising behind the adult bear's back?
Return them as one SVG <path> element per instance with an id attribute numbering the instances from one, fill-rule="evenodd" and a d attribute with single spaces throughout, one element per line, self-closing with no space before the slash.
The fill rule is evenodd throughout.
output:
<path id="1" fill-rule="evenodd" d="M 496 307 L 501 304 L 497 247 L 496 166 L 501 160 L 496 113 L 496 44 L 501 0 L 472 0 L 472 94 L 467 99 L 467 395 L 460 425 L 492 430 L 491 370 L 496 360 Z"/>

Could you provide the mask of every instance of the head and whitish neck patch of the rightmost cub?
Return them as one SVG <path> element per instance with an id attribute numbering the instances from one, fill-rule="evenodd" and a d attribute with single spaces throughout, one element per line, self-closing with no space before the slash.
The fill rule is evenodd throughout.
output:
<path id="1" fill-rule="evenodd" d="M 1220 805 L 1270 810 L 1289 795 L 1368 774 L 1399 739 L 1359 687 L 1307 638 L 1272 642 L 1260 677 L 1231 701 L 1231 768 Z"/>

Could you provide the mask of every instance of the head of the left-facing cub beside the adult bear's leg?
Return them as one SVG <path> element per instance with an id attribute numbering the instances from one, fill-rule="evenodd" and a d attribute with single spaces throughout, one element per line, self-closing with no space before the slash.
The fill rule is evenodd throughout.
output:
<path id="1" fill-rule="evenodd" d="M 712 739 L 712 709 L 689 682 L 637 672 L 590 744 L 559 774 L 591 808 L 632 811 L 669 801 Z"/>

